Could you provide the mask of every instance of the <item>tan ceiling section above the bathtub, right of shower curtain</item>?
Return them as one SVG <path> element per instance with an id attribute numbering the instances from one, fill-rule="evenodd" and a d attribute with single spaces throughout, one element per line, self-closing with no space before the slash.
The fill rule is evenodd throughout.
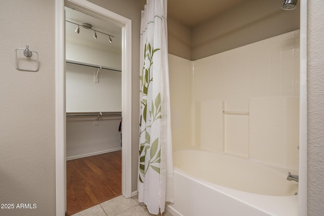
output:
<path id="1" fill-rule="evenodd" d="M 170 0 L 168 17 L 193 27 L 246 1 L 249 0 Z"/>

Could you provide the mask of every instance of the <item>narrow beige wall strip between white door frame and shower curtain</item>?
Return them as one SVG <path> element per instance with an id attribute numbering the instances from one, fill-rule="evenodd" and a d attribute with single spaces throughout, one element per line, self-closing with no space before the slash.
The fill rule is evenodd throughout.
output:
<path id="1" fill-rule="evenodd" d="M 136 191 L 139 148 L 139 49 L 141 0 L 90 0 L 89 2 L 132 20 L 132 191 Z"/>

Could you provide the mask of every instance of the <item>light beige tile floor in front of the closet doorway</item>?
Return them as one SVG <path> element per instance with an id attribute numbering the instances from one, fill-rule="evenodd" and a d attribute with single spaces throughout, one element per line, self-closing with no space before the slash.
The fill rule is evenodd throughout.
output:
<path id="1" fill-rule="evenodd" d="M 80 211 L 72 216 L 151 216 L 146 205 L 138 202 L 138 195 L 126 199 L 118 196 L 106 202 Z M 173 216 L 168 211 L 163 212 L 163 216 Z"/>

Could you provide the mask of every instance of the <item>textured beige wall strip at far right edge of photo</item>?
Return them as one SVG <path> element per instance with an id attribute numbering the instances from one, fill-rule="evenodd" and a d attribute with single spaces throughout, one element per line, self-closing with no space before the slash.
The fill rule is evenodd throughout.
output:
<path id="1" fill-rule="evenodd" d="M 307 1 L 307 215 L 324 212 L 324 2 Z"/>

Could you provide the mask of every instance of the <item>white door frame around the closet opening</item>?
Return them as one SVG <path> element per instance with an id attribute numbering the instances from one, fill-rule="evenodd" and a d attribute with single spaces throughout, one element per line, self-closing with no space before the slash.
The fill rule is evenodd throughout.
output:
<path id="1" fill-rule="evenodd" d="M 55 0 L 55 137 L 56 215 L 66 211 L 66 110 L 65 110 L 65 10 L 64 6 L 114 22 L 121 27 L 121 193 L 132 196 L 132 20 L 86 0 Z"/>

